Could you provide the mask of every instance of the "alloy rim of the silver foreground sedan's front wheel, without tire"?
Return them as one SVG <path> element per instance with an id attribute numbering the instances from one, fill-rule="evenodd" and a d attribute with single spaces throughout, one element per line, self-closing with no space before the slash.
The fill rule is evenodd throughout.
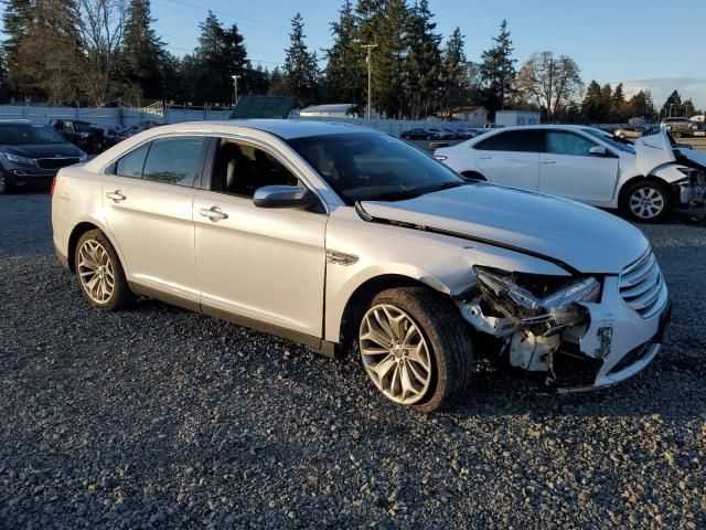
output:
<path id="1" fill-rule="evenodd" d="M 431 354 L 409 315 L 389 304 L 367 310 L 359 342 L 368 377 L 389 400 L 409 405 L 421 400 L 431 382 Z"/>

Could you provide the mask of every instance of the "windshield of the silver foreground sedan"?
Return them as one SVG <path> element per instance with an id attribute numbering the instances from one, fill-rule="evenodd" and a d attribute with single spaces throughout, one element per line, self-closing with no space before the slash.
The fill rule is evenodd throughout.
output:
<path id="1" fill-rule="evenodd" d="M 378 132 L 307 136 L 288 144 L 349 205 L 413 199 L 466 184 L 426 152 Z"/>

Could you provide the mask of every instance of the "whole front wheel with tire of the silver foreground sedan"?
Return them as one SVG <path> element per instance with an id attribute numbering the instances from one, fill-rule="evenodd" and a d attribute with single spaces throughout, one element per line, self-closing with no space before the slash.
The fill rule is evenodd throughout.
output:
<path id="1" fill-rule="evenodd" d="M 470 388 L 473 349 L 466 324 L 450 300 L 425 287 L 375 296 L 357 344 L 371 381 L 397 404 L 431 412 Z"/>

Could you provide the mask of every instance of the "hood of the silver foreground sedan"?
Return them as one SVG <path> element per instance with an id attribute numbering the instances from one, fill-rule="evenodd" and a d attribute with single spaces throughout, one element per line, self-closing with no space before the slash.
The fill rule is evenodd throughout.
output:
<path id="1" fill-rule="evenodd" d="M 607 212 L 485 182 L 361 208 L 374 220 L 495 243 L 586 274 L 619 274 L 649 247 L 640 230 Z"/>

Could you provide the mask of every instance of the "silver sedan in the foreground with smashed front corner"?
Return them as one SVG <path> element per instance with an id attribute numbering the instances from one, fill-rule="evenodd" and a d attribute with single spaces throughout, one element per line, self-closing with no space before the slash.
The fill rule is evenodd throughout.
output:
<path id="1" fill-rule="evenodd" d="M 62 169 L 52 222 L 95 307 L 150 296 L 329 356 L 353 344 L 379 392 L 421 411 L 470 390 L 474 343 L 559 390 L 618 383 L 670 316 L 632 225 L 354 126 L 150 129 Z"/>

